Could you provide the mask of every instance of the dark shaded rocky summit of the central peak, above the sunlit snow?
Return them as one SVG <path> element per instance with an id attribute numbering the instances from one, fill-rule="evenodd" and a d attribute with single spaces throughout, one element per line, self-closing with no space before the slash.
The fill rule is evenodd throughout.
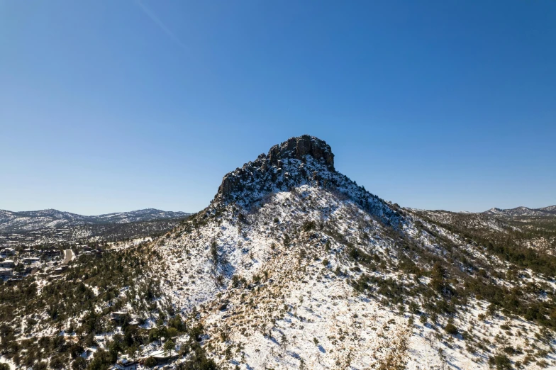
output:
<path id="1" fill-rule="evenodd" d="M 306 184 L 343 194 L 385 224 L 401 220 L 382 199 L 336 172 L 330 145 L 309 135 L 274 145 L 268 155 L 259 155 L 255 161 L 226 174 L 213 206 L 236 203 L 249 207 L 273 192 L 290 191 Z"/>

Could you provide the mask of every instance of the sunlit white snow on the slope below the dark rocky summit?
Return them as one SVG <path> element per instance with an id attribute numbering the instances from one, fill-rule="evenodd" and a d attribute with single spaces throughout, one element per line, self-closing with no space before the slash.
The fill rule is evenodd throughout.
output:
<path id="1" fill-rule="evenodd" d="M 345 245 L 323 232 L 301 231 L 307 220 L 333 222 L 354 244 L 361 242 L 362 232 L 374 232 L 365 248 L 381 256 L 392 248 L 382 226 L 352 201 L 306 185 L 273 194 L 245 216 L 228 206 L 206 225 L 190 232 L 177 230 L 157 241 L 161 257 L 151 263 L 160 271 L 165 299 L 184 313 L 199 309 L 209 335 L 207 347 L 221 364 L 241 369 L 348 365 L 366 369 L 399 357 L 408 369 L 488 367 L 482 351 L 468 347 L 461 335 L 448 335 L 430 323 L 423 325 L 418 315 L 399 313 L 379 298 L 357 295 L 344 276 L 335 274 L 337 267 L 343 271 L 353 267 L 342 257 Z M 365 230 L 361 229 L 363 221 Z M 416 234 L 411 224 L 404 225 L 404 230 Z M 437 231 L 461 242 L 445 230 Z M 285 235 L 291 245 L 284 245 Z M 430 235 L 420 237 L 424 247 L 435 248 Z M 222 259 L 216 266 L 211 245 L 216 245 L 218 259 Z M 302 251 L 308 258 L 300 257 Z M 486 259 L 479 249 L 472 252 Z M 324 259 L 328 259 L 326 267 Z M 394 271 L 367 272 L 384 279 L 404 279 Z M 245 279 L 248 288 L 234 288 L 232 276 Z M 486 316 L 486 306 L 470 302 L 455 325 L 491 341 L 493 350 L 504 341 L 520 347 L 523 353 L 513 357 L 516 361 L 526 357 L 524 349 L 532 343 L 552 353 L 547 361 L 555 359 L 552 349 L 535 337 L 538 327 L 519 318 L 482 318 L 479 315 Z M 511 329 L 502 330 L 502 325 Z M 494 342 L 495 337 L 500 343 Z M 527 368 L 540 369 L 532 363 Z"/>

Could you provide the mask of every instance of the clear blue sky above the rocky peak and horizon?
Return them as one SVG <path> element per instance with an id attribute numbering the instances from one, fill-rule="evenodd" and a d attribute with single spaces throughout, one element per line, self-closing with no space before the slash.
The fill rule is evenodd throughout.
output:
<path id="1" fill-rule="evenodd" d="M 556 204 L 556 1 L 0 0 L 0 209 L 199 211 L 291 136 L 416 208 Z"/>

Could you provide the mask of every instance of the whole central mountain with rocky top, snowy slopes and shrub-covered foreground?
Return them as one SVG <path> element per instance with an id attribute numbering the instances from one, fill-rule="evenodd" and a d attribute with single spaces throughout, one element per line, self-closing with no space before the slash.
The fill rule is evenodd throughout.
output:
<path id="1" fill-rule="evenodd" d="M 556 368 L 556 257 L 528 244 L 556 231 L 528 225 L 400 208 L 338 173 L 323 140 L 290 138 L 226 174 L 207 208 L 164 235 L 80 257 L 61 279 L 0 286 L 1 359 Z M 113 320 L 121 312 L 128 320 Z"/>

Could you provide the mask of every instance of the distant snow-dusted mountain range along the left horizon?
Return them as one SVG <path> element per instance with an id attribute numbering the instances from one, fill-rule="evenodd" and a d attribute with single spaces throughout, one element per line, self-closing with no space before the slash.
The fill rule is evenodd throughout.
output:
<path id="1" fill-rule="evenodd" d="M 152 220 L 184 218 L 189 213 L 160 211 L 148 208 L 106 215 L 77 215 L 46 209 L 42 211 L 11 212 L 0 210 L 0 232 L 28 232 L 44 228 L 65 228 L 79 225 L 123 224 Z"/>

